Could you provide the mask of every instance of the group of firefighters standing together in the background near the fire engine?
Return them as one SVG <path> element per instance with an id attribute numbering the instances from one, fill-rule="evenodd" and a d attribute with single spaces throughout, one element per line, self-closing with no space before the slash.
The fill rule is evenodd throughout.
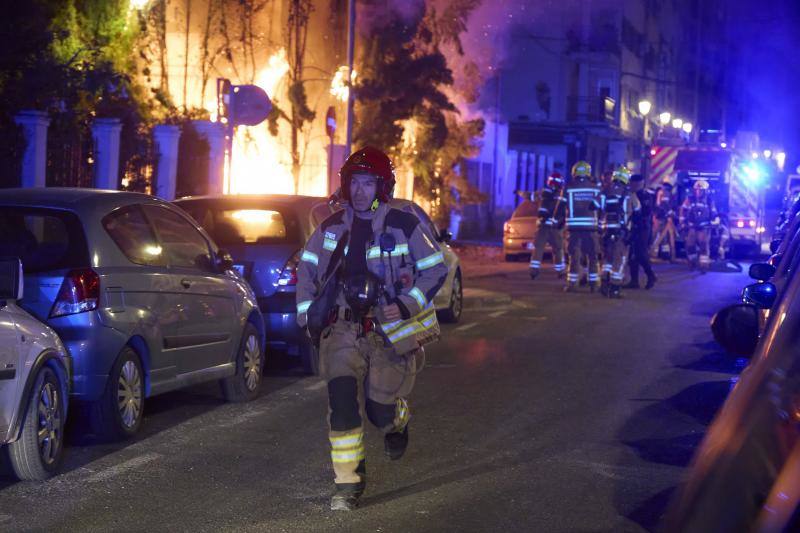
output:
<path id="1" fill-rule="evenodd" d="M 560 277 L 566 271 L 565 292 L 575 292 L 586 282 L 591 292 L 599 287 L 604 296 L 619 298 L 623 286 L 639 288 L 640 267 L 647 276 L 645 288 L 651 289 L 656 276 L 650 255 L 666 241 L 674 260 L 678 231 L 685 235 L 690 268 L 699 267 L 705 273 L 711 263 L 709 228 L 719 224 L 709 184 L 695 181 L 692 194 L 680 207 L 675 199 L 669 179 L 655 193 L 645 187 L 642 175 L 632 175 L 624 166 L 603 181 L 592 177 L 592 168 L 585 161 L 573 165 L 569 181 L 553 172 L 538 198 L 539 225 L 531 254 L 531 278 L 538 277 L 549 245 L 553 269 Z M 628 264 L 630 281 L 623 285 Z"/>

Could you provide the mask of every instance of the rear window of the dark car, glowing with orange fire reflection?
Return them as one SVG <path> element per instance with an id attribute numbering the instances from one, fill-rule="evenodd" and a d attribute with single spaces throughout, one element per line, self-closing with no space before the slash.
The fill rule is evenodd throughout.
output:
<path id="1" fill-rule="evenodd" d="M 300 239 L 296 217 L 277 206 L 247 202 L 179 202 L 219 246 L 285 244 Z"/>

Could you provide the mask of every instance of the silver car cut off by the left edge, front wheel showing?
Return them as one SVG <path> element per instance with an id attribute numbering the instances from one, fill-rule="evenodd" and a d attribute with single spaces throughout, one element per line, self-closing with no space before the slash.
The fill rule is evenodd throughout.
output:
<path id="1" fill-rule="evenodd" d="M 18 259 L 0 261 L 0 445 L 19 479 L 47 479 L 61 464 L 71 360 L 58 335 L 17 305 Z"/>

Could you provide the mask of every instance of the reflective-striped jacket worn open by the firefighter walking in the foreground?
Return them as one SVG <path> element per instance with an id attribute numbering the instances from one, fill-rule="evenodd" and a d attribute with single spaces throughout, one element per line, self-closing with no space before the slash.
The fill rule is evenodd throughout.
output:
<path id="1" fill-rule="evenodd" d="M 301 327 L 321 289 L 321 278 L 328 271 L 333 251 L 344 233 L 350 232 L 353 216 L 349 206 L 329 216 L 314 230 L 302 251 L 296 296 L 297 323 Z M 367 243 L 367 268 L 383 281 L 380 305 L 397 304 L 403 316 L 399 321 L 388 322 L 381 320 L 378 313 L 379 330 L 397 353 L 407 353 L 439 337 L 433 298 L 447 277 L 447 265 L 439 245 L 412 213 L 381 204 L 375 211 L 372 231 L 373 237 Z"/>

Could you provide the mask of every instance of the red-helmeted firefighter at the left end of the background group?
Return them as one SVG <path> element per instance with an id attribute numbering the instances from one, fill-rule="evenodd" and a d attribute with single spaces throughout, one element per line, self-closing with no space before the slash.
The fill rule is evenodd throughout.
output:
<path id="1" fill-rule="evenodd" d="M 564 274 L 564 237 L 562 231 L 565 223 L 566 199 L 564 197 L 564 177 L 560 172 L 553 172 L 547 178 L 547 185 L 539 194 L 539 224 L 531 256 L 531 279 L 536 279 L 542 268 L 544 248 L 548 244 L 553 252 L 553 270 L 559 277 Z"/>

